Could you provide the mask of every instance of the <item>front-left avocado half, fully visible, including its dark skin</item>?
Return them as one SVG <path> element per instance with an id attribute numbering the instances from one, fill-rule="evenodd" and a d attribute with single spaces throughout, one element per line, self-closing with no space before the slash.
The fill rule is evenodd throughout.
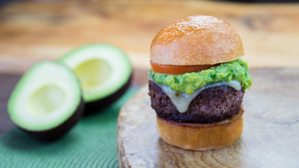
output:
<path id="1" fill-rule="evenodd" d="M 38 63 L 18 82 L 7 109 L 12 121 L 32 136 L 59 138 L 83 115 L 80 83 L 64 65 Z"/>

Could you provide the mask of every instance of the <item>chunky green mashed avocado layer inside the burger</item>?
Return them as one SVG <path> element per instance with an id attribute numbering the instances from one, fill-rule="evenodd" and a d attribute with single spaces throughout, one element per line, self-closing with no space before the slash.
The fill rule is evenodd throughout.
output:
<path id="1" fill-rule="evenodd" d="M 200 72 L 185 73 L 182 75 L 168 75 L 149 71 L 149 79 L 162 85 L 169 86 L 173 91 L 192 94 L 194 90 L 218 81 L 230 82 L 232 79 L 241 82 L 243 91 L 249 89 L 252 84 L 248 73 L 247 62 L 242 59 L 221 63 L 216 67 Z"/>

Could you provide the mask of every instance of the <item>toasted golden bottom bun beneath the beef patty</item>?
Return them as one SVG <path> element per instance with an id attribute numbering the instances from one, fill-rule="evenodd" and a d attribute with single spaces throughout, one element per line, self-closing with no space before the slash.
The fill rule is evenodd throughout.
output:
<path id="1" fill-rule="evenodd" d="M 228 119 L 213 124 L 182 123 L 157 115 L 160 137 L 170 145 L 192 150 L 208 151 L 233 144 L 243 132 L 243 107 Z"/>

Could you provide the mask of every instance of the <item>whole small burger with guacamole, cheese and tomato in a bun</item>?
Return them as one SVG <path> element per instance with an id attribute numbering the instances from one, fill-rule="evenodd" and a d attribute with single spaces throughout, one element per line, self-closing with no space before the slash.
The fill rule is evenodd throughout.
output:
<path id="1" fill-rule="evenodd" d="M 149 95 L 165 142 L 206 151 L 240 137 L 242 100 L 252 83 L 243 55 L 235 29 L 213 16 L 187 17 L 154 37 Z"/>

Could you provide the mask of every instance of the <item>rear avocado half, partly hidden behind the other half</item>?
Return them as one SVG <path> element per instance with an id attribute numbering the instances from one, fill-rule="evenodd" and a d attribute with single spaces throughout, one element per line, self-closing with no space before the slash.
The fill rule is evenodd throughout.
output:
<path id="1" fill-rule="evenodd" d="M 131 63 L 119 48 L 108 44 L 88 44 L 58 60 L 72 69 L 83 89 L 85 113 L 96 112 L 117 100 L 129 87 Z"/>

